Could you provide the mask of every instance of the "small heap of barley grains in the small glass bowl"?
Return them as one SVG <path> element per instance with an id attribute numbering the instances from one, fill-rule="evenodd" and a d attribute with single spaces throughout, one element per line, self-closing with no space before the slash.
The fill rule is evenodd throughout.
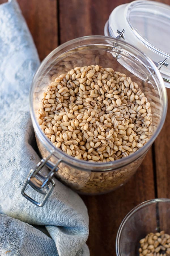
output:
<path id="1" fill-rule="evenodd" d="M 165 231 L 149 233 L 139 242 L 139 256 L 170 256 L 170 235 Z"/>

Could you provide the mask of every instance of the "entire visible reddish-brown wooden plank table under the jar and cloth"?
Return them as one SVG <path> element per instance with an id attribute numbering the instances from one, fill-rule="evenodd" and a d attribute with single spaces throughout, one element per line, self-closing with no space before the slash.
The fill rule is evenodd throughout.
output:
<path id="1" fill-rule="evenodd" d="M 5 2 L 0 0 L 0 3 Z M 86 35 L 103 35 L 111 11 L 129 0 L 18 0 L 43 60 L 58 45 Z M 170 0 L 161 0 L 170 4 Z M 170 90 L 168 101 L 170 103 Z M 170 104 L 169 104 L 170 105 Z M 168 108 L 168 113 L 170 107 Z M 89 213 L 91 256 L 114 256 L 118 227 L 137 204 L 170 196 L 170 115 L 137 173 L 126 185 L 100 196 L 82 196 Z M 69 256 L 69 255 L 68 255 Z"/>

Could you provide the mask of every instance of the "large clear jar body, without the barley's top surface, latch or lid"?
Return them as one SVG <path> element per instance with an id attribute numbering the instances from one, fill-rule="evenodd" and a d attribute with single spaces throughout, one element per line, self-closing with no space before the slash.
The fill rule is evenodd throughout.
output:
<path id="1" fill-rule="evenodd" d="M 77 66 L 96 64 L 105 68 L 111 67 L 131 77 L 133 82 L 137 82 L 152 108 L 149 141 L 135 153 L 106 163 L 78 160 L 65 154 L 45 136 L 37 121 L 39 102 L 54 75 L 67 73 Z M 128 43 L 111 37 L 88 36 L 60 45 L 45 58 L 33 79 L 30 110 L 41 156 L 48 158 L 46 163 L 50 168 L 58 163 L 59 169 L 55 173 L 58 179 L 78 193 L 101 194 L 123 185 L 141 164 L 165 121 L 167 94 L 158 69 L 145 54 Z"/>

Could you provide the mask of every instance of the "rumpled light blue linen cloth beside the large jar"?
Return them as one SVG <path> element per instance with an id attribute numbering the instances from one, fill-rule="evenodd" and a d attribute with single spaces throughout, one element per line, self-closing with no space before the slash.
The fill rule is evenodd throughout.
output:
<path id="1" fill-rule="evenodd" d="M 0 256 L 88 256 L 88 213 L 75 192 L 55 179 L 42 208 L 21 195 L 39 162 L 28 102 L 39 64 L 18 3 L 0 5 Z M 45 225 L 51 237 L 30 224 Z"/>

